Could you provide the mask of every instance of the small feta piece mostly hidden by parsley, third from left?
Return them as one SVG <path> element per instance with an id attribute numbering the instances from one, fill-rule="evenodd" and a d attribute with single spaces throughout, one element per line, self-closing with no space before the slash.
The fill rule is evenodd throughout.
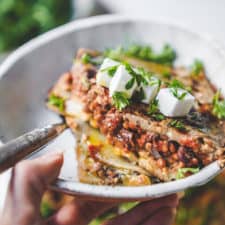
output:
<path id="1" fill-rule="evenodd" d="M 141 87 L 144 91 L 145 98 L 142 102 L 150 103 L 158 93 L 160 81 L 156 77 L 151 77 L 149 84 L 142 84 Z"/>

